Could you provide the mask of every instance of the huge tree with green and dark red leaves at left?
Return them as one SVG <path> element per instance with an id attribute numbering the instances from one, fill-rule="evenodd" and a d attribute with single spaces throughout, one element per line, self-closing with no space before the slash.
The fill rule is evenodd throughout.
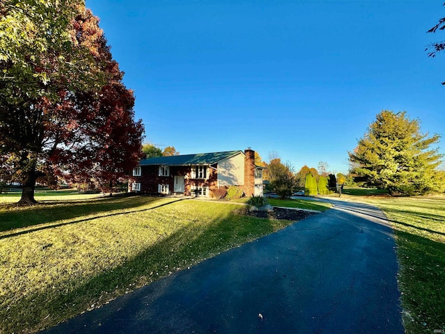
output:
<path id="1" fill-rule="evenodd" d="M 98 19 L 78 0 L 0 5 L 0 155 L 35 202 L 35 182 L 110 184 L 140 157 L 141 122 Z M 2 164 L 3 168 L 3 164 Z"/>

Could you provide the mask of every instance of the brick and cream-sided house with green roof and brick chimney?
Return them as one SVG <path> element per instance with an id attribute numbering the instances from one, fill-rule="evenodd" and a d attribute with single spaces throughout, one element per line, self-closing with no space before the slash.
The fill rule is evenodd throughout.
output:
<path id="1" fill-rule="evenodd" d="M 221 187 L 239 186 L 245 196 L 263 196 L 263 169 L 255 152 L 227 151 L 143 159 L 133 169 L 130 191 L 210 197 Z"/>

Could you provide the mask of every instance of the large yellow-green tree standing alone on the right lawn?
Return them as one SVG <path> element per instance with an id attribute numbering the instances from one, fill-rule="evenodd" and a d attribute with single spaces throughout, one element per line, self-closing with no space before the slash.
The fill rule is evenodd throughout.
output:
<path id="1" fill-rule="evenodd" d="M 382 111 L 357 148 L 348 152 L 351 172 L 366 185 L 392 194 L 435 191 L 442 154 L 430 146 L 439 138 L 438 134 L 422 134 L 419 120 L 410 120 L 405 112 Z"/>

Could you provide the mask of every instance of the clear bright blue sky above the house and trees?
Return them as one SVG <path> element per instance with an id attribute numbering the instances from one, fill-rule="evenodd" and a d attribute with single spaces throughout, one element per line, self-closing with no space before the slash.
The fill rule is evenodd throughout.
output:
<path id="1" fill-rule="evenodd" d="M 251 147 L 335 173 L 382 109 L 444 134 L 445 54 L 424 51 L 445 39 L 426 33 L 442 3 L 86 0 L 135 92 L 145 142 L 181 154 Z"/>

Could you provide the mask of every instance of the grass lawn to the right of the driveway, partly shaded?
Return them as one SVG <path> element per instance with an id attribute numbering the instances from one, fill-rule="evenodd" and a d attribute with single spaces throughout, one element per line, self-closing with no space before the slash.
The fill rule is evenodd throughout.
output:
<path id="1" fill-rule="evenodd" d="M 445 330 L 445 196 L 357 200 L 380 207 L 394 224 L 407 333 Z"/>

